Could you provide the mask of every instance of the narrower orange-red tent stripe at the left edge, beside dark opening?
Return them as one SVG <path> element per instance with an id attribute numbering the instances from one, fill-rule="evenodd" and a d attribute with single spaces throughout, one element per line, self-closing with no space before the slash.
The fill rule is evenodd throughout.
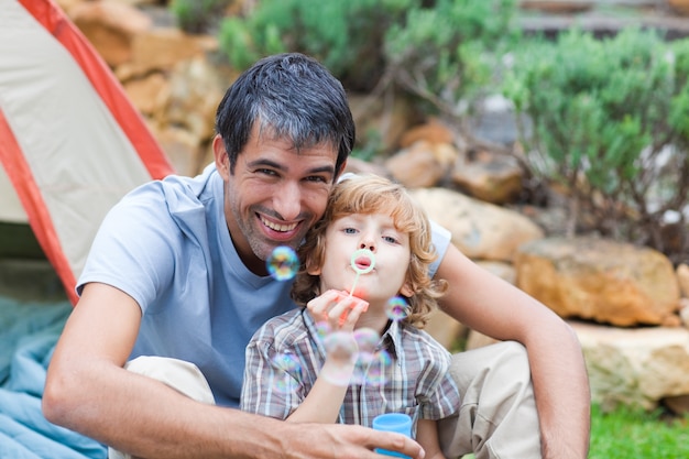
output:
<path id="1" fill-rule="evenodd" d="M 76 305 L 77 294 L 74 287 L 77 281 L 69 261 L 62 250 L 57 231 L 55 231 L 47 206 L 43 201 L 41 190 L 31 173 L 31 167 L 26 163 L 26 157 L 22 153 L 2 110 L 0 110 L 0 163 L 2 163 L 10 182 L 17 189 L 39 244 L 62 280 L 69 300 Z"/>

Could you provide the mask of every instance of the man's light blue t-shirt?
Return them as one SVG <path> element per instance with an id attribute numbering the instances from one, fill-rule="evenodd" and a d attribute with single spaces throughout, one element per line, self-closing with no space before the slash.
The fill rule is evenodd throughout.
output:
<path id="1" fill-rule="evenodd" d="M 193 362 L 218 405 L 239 406 L 247 343 L 295 304 L 292 282 L 255 275 L 239 259 L 222 185 L 211 164 L 197 177 L 169 176 L 131 192 L 105 218 L 77 293 L 100 282 L 130 295 L 142 310 L 131 358 Z M 450 236 L 435 225 L 433 236 L 440 260 Z"/>

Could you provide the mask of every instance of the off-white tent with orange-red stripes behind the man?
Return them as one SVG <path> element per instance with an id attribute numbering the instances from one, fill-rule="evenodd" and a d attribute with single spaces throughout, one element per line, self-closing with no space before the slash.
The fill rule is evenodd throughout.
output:
<path id="1" fill-rule="evenodd" d="M 0 194 L 0 220 L 24 211 L 76 304 L 76 278 L 107 211 L 173 167 L 53 0 L 0 0 L 0 181 L 15 192 Z"/>

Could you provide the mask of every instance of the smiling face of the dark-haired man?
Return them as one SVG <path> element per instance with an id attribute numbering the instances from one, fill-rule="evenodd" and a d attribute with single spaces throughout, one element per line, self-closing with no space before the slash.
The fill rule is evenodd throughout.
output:
<path id="1" fill-rule="evenodd" d="M 265 275 L 271 252 L 280 245 L 296 249 L 322 216 L 337 150 L 319 144 L 297 152 L 291 141 L 260 138 L 258 129 L 238 155 L 233 175 L 222 142 L 214 149 L 226 182 L 225 218 L 232 242 L 247 267 Z"/>

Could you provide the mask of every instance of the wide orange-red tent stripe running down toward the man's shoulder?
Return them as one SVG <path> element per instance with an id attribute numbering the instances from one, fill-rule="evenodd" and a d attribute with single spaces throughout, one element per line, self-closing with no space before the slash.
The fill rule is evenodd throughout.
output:
<path id="1" fill-rule="evenodd" d="M 129 138 L 151 177 L 163 178 L 172 174 L 174 171 L 171 163 L 145 125 L 141 113 L 132 106 L 120 81 L 59 7 L 53 0 L 19 2 L 72 54 Z"/>

